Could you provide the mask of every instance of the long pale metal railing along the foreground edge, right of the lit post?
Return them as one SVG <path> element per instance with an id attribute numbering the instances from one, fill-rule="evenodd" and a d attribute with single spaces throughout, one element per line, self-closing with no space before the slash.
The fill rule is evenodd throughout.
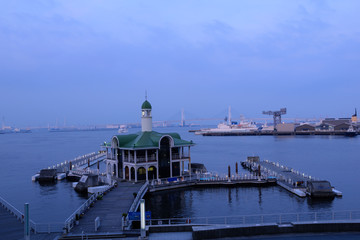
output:
<path id="1" fill-rule="evenodd" d="M 332 211 L 332 212 L 304 212 L 284 214 L 262 214 L 262 215 L 238 215 L 218 217 L 195 217 L 195 218 L 168 218 L 151 219 L 148 225 L 178 225 L 178 224 L 285 224 L 299 222 L 334 222 L 334 221 L 358 221 L 360 211 Z"/>

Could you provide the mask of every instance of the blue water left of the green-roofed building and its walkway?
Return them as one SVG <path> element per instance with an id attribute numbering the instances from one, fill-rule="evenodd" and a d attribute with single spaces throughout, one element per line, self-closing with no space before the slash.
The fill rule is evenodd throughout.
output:
<path id="1" fill-rule="evenodd" d="M 19 210 L 30 204 L 36 222 L 63 222 L 87 196 L 74 191 L 71 182 L 41 186 L 31 176 L 42 168 L 100 150 L 116 131 L 0 134 L 0 196 Z"/>

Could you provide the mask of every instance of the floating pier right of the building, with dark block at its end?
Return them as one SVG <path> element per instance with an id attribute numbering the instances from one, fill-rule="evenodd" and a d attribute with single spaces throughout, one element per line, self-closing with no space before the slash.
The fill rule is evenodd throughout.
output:
<path id="1" fill-rule="evenodd" d="M 276 178 L 276 183 L 299 197 L 341 197 L 342 193 L 330 186 L 326 180 L 320 180 L 308 174 L 259 157 L 248 157 L 241 165 L 258 176 Z M 314 187 L 313 187 L 314 186 Z"/>

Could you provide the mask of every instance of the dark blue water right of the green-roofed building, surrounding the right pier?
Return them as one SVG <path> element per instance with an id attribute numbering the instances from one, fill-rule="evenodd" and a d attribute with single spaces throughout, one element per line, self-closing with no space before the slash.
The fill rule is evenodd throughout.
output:
<path id="1" fill-rule="evenodd" d="M 261 159 L 327 179 L 344 196 L 333 201 L 311 201 L 277 186 L 174 190 L 155 193 L 147 199 L 147 208 L 154 218 L 360 209 L 359 137 L 203 137 L 187 132 L 182 132 L 182 137 L 197 143 L 191 152 L 192 161 L 204 163 L 209 171 L 226 173 L 230 165 L 234 173 L 235 162 L 259 155 Z"/>

